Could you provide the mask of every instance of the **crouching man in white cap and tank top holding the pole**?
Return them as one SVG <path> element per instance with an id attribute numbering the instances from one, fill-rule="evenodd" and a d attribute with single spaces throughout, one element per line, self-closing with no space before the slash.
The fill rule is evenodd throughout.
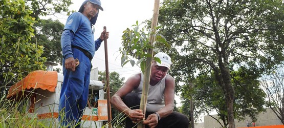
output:
<path id="1" fill-rule="evenodd" d="M 154 57 L 160 58 L 161 63 L 152 61 L 146 119 L 143 124 L 151 128 L 187 128 L 189 126 L 188 118 L 181 113 L 173 112 L 175 83 L 173 77 L 167 74 L 171 66 L 170 57 L 162 52 L 157 53 Z M 143 120 L 144 114 L 142 110 L 139 110 L 143 80 L 143 73 L 129 77 L 112 97 L 111 103 L 114 107 L 127 116 L 125 121 L 127 128 L 133 127 L 136 125 L 135 122 Z"/>

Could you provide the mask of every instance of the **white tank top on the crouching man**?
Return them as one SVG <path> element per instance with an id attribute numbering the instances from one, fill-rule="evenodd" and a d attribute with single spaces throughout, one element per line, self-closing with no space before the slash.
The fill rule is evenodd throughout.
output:
<path id="1" fill-rule="evenodd" d="M 165 82 L 166 76 L 156 85 L 154 86 L 149 85 L 146 112 L 157 112 L 165 106 L 164 91 L 166 87 L 166 82 Z M 137 93 L 140 98 L 142 94 L 143 80 L 144 80 L 144 75 L 143 73 L 141 73 L 141 80 L 139 87 L 132 91 L 134 93 Z"/>

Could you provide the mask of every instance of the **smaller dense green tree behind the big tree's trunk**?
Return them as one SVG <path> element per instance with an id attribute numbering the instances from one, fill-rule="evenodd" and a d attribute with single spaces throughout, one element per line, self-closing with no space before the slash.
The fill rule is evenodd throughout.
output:
<path id="1" fill-rule="evenodd" d="M 259 74 L 246 69 L 239 69 L 231 72 L 232 86 L 235 89 L 234 95 L 234 115 L 238 121 L 244 120 L 246 116 L 256 120 L 256 115 L 265 111 L 265 92 L 260 88 L 257 80 Z M 226 116 L 225 96 L 222 89 L 216 84 L 210 75 L 200 75 L 196 78 L 194 93 L 194 102 L 196 105 L 196 114 L 206 113 L 212 118 L 212 111 L 216 112 L 219 118 L 214 118 L 222 127 L 227 127 L 228 120 Z M 185 87 L 186 88 L 186 87 Z M 183 96 L 187 96 L 183 92 Z"/>

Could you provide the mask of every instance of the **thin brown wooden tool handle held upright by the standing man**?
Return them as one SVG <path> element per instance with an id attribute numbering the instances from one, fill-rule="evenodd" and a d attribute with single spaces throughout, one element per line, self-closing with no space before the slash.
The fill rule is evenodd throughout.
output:
<path id="1" fill-rule="evenodd" d="M 106 32 L 106 27 L 103 29 Z M 107 39 L 104 38 L 104 58 L 105 58 L 105 78 L 106 78 L 106 95 L 107 95 L 107 123 L 108 127 L 112 128 L 112 110 L 111 110 L 111 95 L 110 95 L 110 75 L 108 73 L 108 55 L 107 55 Z"/>

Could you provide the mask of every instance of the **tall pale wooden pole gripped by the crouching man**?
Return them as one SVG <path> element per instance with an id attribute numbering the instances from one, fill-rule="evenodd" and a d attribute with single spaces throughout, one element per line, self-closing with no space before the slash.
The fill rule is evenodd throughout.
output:
<path id="1" fill-rule="evenodd" d="M 149 44 L 153 46 L 153 42 L 155 42 L 156 39 L 156 27 L 158 24 L 158 16 L 159 16 L 159 7 L 160 7 L 160 0 L 155 0 L 154 3 L 154 12 L 152 16 L 152 23 L 151 23 L 151 31 L 154 34 L 150 35 L 150 42 Z M 153 55 L 154 50 L 148 49 L 148 53 Z M 147 104 L 147 98 L 148 98 L 148 90 L 149 90 L 149 83 L 150 83 L 150 73 L 151 73 L 151 64 L 152 64 L 153 57 L 147 57 L 146 59 L 146 70 L 144 74 L 144 83 L 143 83 L 143 89 L 142 89 L 142 95 L 141 95 L 141 101 L 140 101 L 140 110 L 143 110 L 143 113 L 146 113 L 146 104 Z M 138 128 L 145 127 L 145 125 L 140 122 L 137 126 Z"/>

